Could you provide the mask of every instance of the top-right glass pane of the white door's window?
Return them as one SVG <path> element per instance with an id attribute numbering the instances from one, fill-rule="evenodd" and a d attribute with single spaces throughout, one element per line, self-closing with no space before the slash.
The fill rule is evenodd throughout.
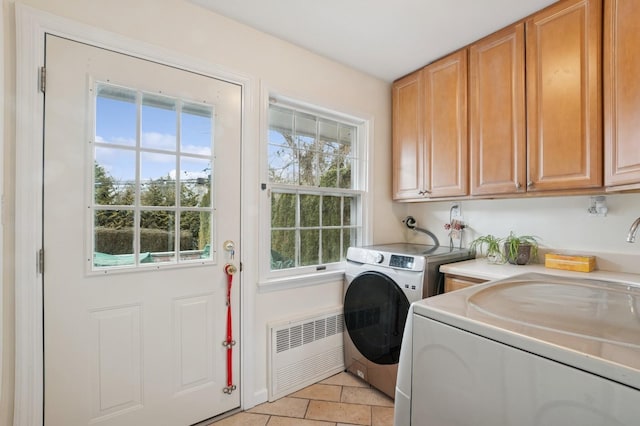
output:
<path id="1" fill-rule="evenodd" d="M 184 104 L 180 117 L 180 151 L 211 155 L 213 108 L 208 105 Z"/>

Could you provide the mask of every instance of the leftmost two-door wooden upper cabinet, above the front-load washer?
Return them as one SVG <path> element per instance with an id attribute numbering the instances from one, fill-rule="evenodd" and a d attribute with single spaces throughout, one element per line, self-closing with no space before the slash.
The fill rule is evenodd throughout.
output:
<path id="1" fill-rule="evenodd" d="M 393 84 L 393 199 L 468 194 L 467 50 Z"/>

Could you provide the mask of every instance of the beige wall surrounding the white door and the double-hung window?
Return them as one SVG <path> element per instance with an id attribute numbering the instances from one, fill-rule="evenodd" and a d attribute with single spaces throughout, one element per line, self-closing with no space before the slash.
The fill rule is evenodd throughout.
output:
<path id="1" fill-rule="evenodd" d="M 393 205 L 390 199 L 390 140 L 391 100 L 390 84 L 332 62 L 292 44 L 282 42 L 235 21 L 206 11 L 186 0 L 21 0 L 19 3 L 71 19 L 92 27 L 113 32 L 184 55 L 212 68 L 222 68 L 251 81 L 252 93 L 246 106 L 246 117 L 251 123 L 245 140 L 246 152 L 258 152 L 259 102 L 263 87 L 281 95 L 309 103 L 333 108 L 353 115 L 370 117 L 373 133 L 373 174 L 371 192 L 376 206 L 372 214 L 372 242 L 396 240 L 400 233 L 399 220 L 386 220 L 401 214 L 404 206 Z M 15 185 L 15 28 L 14 4 L 4 0 L 5 8 L 5 241 L 4 306 L 3 306 L 3 388 L 0 400 L 0 424 L 9 425 L 13 405 L 14 350 L 14 185 Z M 245 188 L 258 188 L 257 158 L 244 164 L 247 177 L 255 180 Z M 254 185 L 255 183 L 255 185 Z M 255 235 L 258 226 L 257 189 L 255 194 L 244 194 L 245 232 Z M 254 336 L 243 336 L 255 342 L 253 389 L 249 390 L 247 404 L 262 402 L 266 397 L 266 323 L 300 313 L 315 311 L 341 303 L 342 283 L 261 293 L 257 290 L 257 238 L 245 241 L 244 288 L 253 293 L 255 306 L 248 307 Z M 19 285 L 19 283 L 17 284 Z"/>

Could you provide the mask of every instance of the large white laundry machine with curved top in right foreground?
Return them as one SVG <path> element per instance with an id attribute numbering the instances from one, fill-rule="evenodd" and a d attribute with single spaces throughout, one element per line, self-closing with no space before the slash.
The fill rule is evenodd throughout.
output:
<path id="1" fill-rule="evenodd" d="M 395 426 L 640 424 L 640 283 L 523 274 L 411 311 Z"/>

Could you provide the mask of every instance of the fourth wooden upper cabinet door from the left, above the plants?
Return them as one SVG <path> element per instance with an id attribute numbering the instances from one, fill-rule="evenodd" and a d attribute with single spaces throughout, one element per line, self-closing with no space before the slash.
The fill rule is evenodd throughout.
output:
<path id="1" fill-rule="evenodd" d="M 528 191 L 602 185 L 601 0 L 527 20 Z"/>

